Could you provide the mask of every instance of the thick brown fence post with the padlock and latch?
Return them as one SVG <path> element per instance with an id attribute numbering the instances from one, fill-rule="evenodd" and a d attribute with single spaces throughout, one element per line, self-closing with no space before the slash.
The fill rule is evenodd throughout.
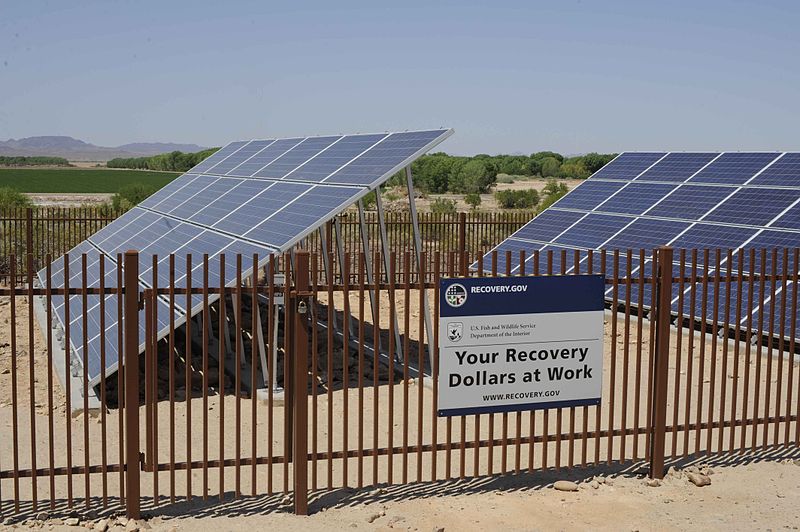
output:
<path id="1" fill-rule="evenodd" d="M 308 311 L 309 255 L 295 254 L 294 305 L 294 513 L 308 515 Z"/>

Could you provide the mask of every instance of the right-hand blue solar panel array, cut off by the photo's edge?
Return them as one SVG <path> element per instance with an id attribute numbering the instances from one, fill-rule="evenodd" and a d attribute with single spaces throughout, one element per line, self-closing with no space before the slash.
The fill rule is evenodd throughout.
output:
<path id="1" fill-rule="evenodd" d="M 651 268 L 649 250 L 661 245 L 726 251 L 800 247 L 800 153 L 622 153 L 492 251 L 498 252 L 501 272 L 506 271 L 506 251 L 511 251 L 511 271 L 517 273 L 520 250 L 529 257 L 526 271 L 530 272 L 534 250 L 540 251 L 540 261 L 553 250 L 554 271 L 560 271 L 562 250 L 567 250 L 571 257 L 575 249 L 645 248 L 648 250 L 645 274 L 648 274 Z M 744 253 L 744 271 L 760 272 L 760 262 L 757 260 L 750 265 L 749 252 Z M 490 267 L 491 255 L 490 252 L 484 256 L 484 268 Z M 700 256 L 702 258 L 702 253 Z M 714 266 L 713 253 L 711 257 Z M 734 274 L 738 260 L 737 252 L 733 256 Z M 599 256 L 596 261 L 594 271 L 600 271 Z M 623 267 L 625 261 L 625 253 L 622 253 L 620 264 Z M 728 270 L 726 262 L 723 253 L 720 267 L 723 278 Z M 767 262 L 771 262 L 771 256 Z M 633 264 L 638 264 L 638 252 Z M 677 275 L 677 265 L 675 268 Z M 790 272 L 798 268 L 791 257 L 789 268 Z M 583 269 L 586 271 L 585 265 Z M 567 270 L 572 271 L 571 265 Z M 772 272 L 769 268 L 766 270 Z M 606 264 L 606 271 L 611 271 L 610 263 Z M 782 273 L 780 264 L 776 271 Z M 679 287 L 674 286 L 675 312 L 679 310 L 678 290 Z M 751 313 L 753 324 L 759 323 L 762 314 L 768 314 L 772 304 L 770 281 L 765 285 L 763 313 L 758 290 L 756 286 L 752 294 L 749 291 L 743 294 L 742 324 L 747 323 Z M 779 300 L 781 291 L 782 286 L 775 287 Z M 622 294 L 624 297 L 624 290 Z M 645 306 L 650 305 L 650 296 L 648 287 L 643 293 Z M 719 314 L 709 315 L 709 305 L 706 319 L 724 320 L 725 295 L 721 297 Z M 631 298 L 638 301 L 638 293 L 632 290 Z M 698 297 L 695 308 L 698 317 L 702 316 L 700 299 Z M 735 316 L 736 298 L 731 300 L 727 311 L 729 316 Z M 688 305 L 685 302 L 681 309 L 686 314 Z M 790 312 L 785 314 L 783 330 L 788 336 L 792 317 Z M 775 318 L 780 319 L 779 316 Z M 767 330 L 769 323 L 763 325 Z M 782 330 L 781 323 L 773 325 L 776 333 Z M 797 334 L 800 335 L 800 329 Z"/>

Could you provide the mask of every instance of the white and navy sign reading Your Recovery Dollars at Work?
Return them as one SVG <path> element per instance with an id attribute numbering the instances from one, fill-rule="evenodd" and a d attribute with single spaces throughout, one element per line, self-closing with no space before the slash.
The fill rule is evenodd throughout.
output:
<path id="1" fill-rule="evenodd" d="M 445 279 L 439 415 L 600 404 L 601 276 Z"/>

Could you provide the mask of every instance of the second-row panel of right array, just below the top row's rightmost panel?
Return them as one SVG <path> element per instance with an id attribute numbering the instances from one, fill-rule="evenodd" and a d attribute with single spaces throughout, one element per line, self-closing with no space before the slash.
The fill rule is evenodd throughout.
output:
<path id="1" fill-rule="evenodd" d="M 726 199 L 703 220 L 767 225 L 800 198 L 800 190 L 745 188 Z"/>

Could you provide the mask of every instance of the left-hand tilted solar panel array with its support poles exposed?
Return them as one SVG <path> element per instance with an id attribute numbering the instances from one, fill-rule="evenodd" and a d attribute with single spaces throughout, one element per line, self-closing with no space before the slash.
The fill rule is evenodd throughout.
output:
<path id="1" fill-rule="evenodd" d="M 117 286 L 117 254 L 139 251 L 140 290 L 169 283 L 169 254 L 176 255 L 175 286 L 184 288 L 192 274 L 201 278 L 203 254 L 225 255 L 235 264 L 235 255 L 258 254 L 264 265 L 269 256 L 291 249 L 336 214 L 375 189 L 395 172 L 439 144 L 451 129 L 336 135 L 232 142 L 176 178 L 88 240 L 70 250 L 69 286 L 82 284 L 81 254 L 86 253 L 87 286 L 100 284 L 100 257 L 105 257 L 105 287 Z M 153 256 L 158 256 L 157 274 Z M 185 257 L 192 256 L 192 272 Z M 63 260 L 52 264 L 52 286 L 64 286 Z M 233 268 L 225 279 L 209 272 L 210 286 L 235 283 Z M 247 275 L 249 272 L 244 272 Z M 46 283 L 45 271 L 39 281 Z M 54 314 L 66 327 L 63 297 L 54 297 Z M 90 382 L 96 384 L 104 368 L 100 363 L 100 296 L 88 297 L 86 306 L 87 349 L 83 345 L 82 296 L 69 299 L 70 343 L 74 359 L 85 360 Z M 158 301 L 159 337 L 171 319 L 176 325 L 202 307 L 195 298 L 193 308 L 170 307 Z M 116 370 L 117 300 L 105 299 L 105 372 Z M 140 319 L 140 345 L 144 343 L 144 319 Z"/>

